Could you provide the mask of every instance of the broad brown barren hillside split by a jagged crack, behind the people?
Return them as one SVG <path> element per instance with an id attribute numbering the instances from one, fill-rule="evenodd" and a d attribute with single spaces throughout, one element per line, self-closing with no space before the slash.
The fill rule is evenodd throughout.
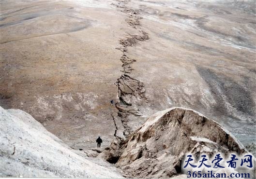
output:
<path id="1" fill-rule="evenodd" d="M 0 106 L 70 147 L 107 147 L 174 106 L 255 141 L 254 1 L 0 3 Z"/>

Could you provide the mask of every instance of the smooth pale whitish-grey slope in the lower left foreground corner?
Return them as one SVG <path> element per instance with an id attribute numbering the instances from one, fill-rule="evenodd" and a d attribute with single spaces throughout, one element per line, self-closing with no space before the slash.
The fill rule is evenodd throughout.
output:
<path id="1" fill-rule="evenodd" d="M 22 110 L 0 107 L 0 146 L 0 177 L 122 178 L 114 166 L 76 154 Z"/>

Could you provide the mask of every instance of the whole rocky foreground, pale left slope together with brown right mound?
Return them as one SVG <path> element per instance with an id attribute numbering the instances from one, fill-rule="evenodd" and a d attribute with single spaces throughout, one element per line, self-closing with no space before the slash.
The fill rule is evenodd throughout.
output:
<path id="1" fill-rule="evenodd" d="M 127 140 L 116 136 L 105 150 L 85 151 L 71 149 L 22 110 L 0 107 L 0 117 L 0 177 L 185 179 L 181 164 L 187 152 L 248 152 L 220 124 L 185 108 L 159 111 Z M 238 171 L 243 170 L 219 172 Z M 255 177 L 255 170 L 244 172 Z"/>

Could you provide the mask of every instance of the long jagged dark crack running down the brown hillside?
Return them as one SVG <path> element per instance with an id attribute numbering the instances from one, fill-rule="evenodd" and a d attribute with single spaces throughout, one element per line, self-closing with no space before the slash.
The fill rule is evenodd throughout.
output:
<path id="1" fill-rule="evenodd" d="M 118 110 L 118 116 L 120 117 L 121 124 L 124 127 L 124 136 L 127 136 L 131 133 L 131 129 L 127 124 L 128 116 L 142 115 L 140 110 L 137 109 L 134 103 L 136 102 L 136 100 L 140 100 L 142 98 L 146 99 L 147 101 L 147 98 L 145 96 L 146 90 L 143 87 L 144 84 L 128 75 L 132 73 L 132 70 L 134 70 L 132 68 L 132 64 L 136 62 L 136 59 L 130 58 L 127 55 L 127 47 L 136 45 L 138 41 L 146 41 L 149 39 L 148 33 L 141 30 L 139 27 L 141 26 L 139 19 L 142 18 L 139 15 L 139 11 L 128 8 L 125 5 L 128 2 L 129 1 L 117 0 L 117 3 L 112 3 L 112 5 L 120 9 L 121 12 L 127 14 L 128 18 L 125 19 L 125 22 L 127 22 L 127 24 L 132 28 L 138 29 L 139 33 L 139 35 L 127 33 L 126 37 L 120 39 L 119 43 L 121 46 L 117 48 L 123 53 L 120 58 L 120 61 L 122 62 L 123 74 L 117 80 L 119 102 L 116 104 L 116 108 Z"/>

